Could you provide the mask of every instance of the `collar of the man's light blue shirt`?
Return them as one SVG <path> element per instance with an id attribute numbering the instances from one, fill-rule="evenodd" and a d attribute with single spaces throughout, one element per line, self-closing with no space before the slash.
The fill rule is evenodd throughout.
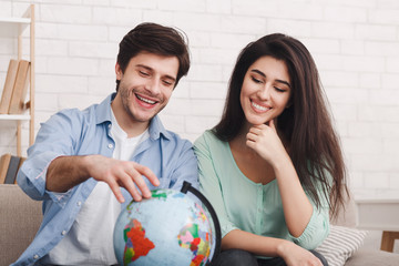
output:
<path id="1" fill-rule="evenodd" d="M 115 96 L 116 96 L 116 92 L 108 95 L 108 98 L 105 98 L 105 100 L 98 105 L 98 108 L 95 109 L 96 124 L 106 123 L 106 122 L 111 123 L 111 103 Z M 165 127 L 163 126 L 158 115 L 155 115 L 150 121 L 149 132 L 150 132 L 150 137 L 152 140 L 157 140 L 161 136 L 161 134 L 167 140 L 172 137 L 171 133 L 166 131 Z"/>

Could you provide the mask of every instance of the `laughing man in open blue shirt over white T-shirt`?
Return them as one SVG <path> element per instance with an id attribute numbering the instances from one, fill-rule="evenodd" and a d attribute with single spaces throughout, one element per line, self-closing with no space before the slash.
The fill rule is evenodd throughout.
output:
<path id="1" fill-rule="evenodd" d="M 14 265 L 116 264 L 120 203 L 150 197 L 155 187 L 180 190 L 183 181 L 197 186 L 191 143 L 166 131 L 156 115 L 188 69 L 178 31 L 140 24 L 120 43 L 116 93 L 42 124 L 18 184 L 43 201 L 43 222 Z"/>

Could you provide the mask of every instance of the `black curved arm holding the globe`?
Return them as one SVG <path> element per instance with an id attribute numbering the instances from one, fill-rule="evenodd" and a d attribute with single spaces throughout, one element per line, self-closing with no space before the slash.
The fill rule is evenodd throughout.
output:
<path id="1" fill-rule="evenodd" d="M 197 198 L 200 198 L 200 201 L 202 203 L 204 203 L 204 205 L 206 206 L 207 211 L 209 212 L 209 214 L 212 216 L 212 219 L 213 219 L 214 225 L 215 225 L 215 241 L 216 241 L 216 243 L 215 243 L 215 252 L 214 252 L 213 257 L 211 259 L 211 265 L 212 265 L 212 263 L 215 262 L 216 257 L 221 253 L 221 242 L 222 242 L 221 224 L 218 222 L 216 212 L 213 208 L 209 201 L 200 191 L 194 188 L 190 182 L 184 181 L 181 192 L 183 194 L 187 194 L 187 192 L 193 193 Z"/>

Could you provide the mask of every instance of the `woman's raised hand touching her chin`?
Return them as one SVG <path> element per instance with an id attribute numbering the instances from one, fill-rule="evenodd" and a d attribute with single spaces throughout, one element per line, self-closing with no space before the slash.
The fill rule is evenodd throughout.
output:
<path id="1" fill-rule="evenodd" d="M 266 160 L 273 166 L 284 158 L 288 158 L 288 154 L 277 134 L 274 120 L 267 124 L 254 125 L 246 135 L 246 144 L 253 149 L 260 157 Z"/>

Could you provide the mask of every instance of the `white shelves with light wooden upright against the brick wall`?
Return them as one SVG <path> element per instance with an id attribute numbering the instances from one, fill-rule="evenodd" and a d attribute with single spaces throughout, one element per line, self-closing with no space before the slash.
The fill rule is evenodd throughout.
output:
<path id="1" fill-rule="evenodd" d="M 22 34 L 29 28 L 30 31 L 30 51 L 29 61 L 30 80 L 29 80 L 29 101 L 25 102 L 25 109 L 29 114 L 0 114 L 0 121 L 17 121 L 17 155 L 22 154 L 22 122 L 29 121 L 29 145 L 34 141 L 34 4 L 30 4 L 22 18 L 3 18 L 0 17 L 1 35 L 18 39 L 18 59 L 23 58 Z"/>

